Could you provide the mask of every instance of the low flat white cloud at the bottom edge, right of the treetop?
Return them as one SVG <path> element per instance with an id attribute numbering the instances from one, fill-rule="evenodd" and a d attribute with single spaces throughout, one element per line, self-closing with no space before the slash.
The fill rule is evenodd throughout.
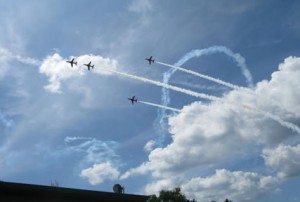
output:
<path id="1" fill-rule="evenodd" d="M 222 201 L 225 198 L 232 201 L 253 201 L 265 191 L 273 190 L 279 182 L 280 179 L 272 176 L 221 169 L 208 177 L 192 178 L 182 185 L 182 190 L 190 198 L 197 198 L 199 201 Z"/>

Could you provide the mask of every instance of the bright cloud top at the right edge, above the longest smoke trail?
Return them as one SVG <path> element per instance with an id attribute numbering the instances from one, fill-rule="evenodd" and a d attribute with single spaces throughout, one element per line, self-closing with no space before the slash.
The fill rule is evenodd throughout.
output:
<path id="1" fill-rule="evenodd" d="M 257 84 L 256 93 L 261 107 L 273 113 L 280 113 L 283 118 L 300 117 L 300 58 L 288 57 L 279 65 L 279 71 L 272 74 L 270 81 Z M 267 99 L 267 100 L 265 100 Z"/>

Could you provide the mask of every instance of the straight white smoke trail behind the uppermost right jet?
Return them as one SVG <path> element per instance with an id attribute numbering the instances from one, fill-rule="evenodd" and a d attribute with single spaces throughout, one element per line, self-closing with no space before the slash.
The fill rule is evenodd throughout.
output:
<path id="1" fill-rule="evenodd" d="M 159 61 L 155 61 L 155 63 L 161 64 L 163 66 L 171 67 L 171 68 L 174 68 L 176 70 L 179 70 L 179 71 L 182 71 L 182 72 L 186 72 L 188 74 L 192 74 L 194 76 L 198 76 L 200 78 L 203 78 L 203 79 L 206 79 L 206 80 L 209 80 L 209 81 L 221 84 L 223 86 L 227 86 L 229 88 L 236 89 L 236 90 L 242 90 L 242 91 L 247 92 L 247 93 L 249 93 L 251 95 L 254 95 L 254 92 L 252 90 L 248 89 L 248 88 L 240 87 L 240 86 L 237 86 L 237 85 L 234 85 L 234 84 L 222 81 L 221 79 L 213 78 L 211 76 L 200 74 L 200 73 L 192 71 L 192 70 L 188 70 L 188 69 L 185 69 L 185 68 L 182 68 L 182 67 L 178 67 L 178 66 L 175 66 L 175 65 L 170 65 L 170 64 L 167 64 L 167 63 L 159 62 Z"/>

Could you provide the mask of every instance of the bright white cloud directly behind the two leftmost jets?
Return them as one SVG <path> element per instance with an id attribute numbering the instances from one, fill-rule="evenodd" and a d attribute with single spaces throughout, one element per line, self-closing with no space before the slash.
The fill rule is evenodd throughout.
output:
<path id="1" fill-rule="evenodd" d="M 49 77 L 49 84 L 45 86 L 45 89 L 53 93 L 61 93 L 61 82 L 84 76 L 87 70 L 83 64 L 87 64 L 90 61 L 95 66 L 90 71 L 91 73 L 107 75 L 110 73 L 105 71 L 105 69 L 115 69 L 117 67 L 116 60 L 96 55 L 81 55 L 76 57 L 77 66 L 71 68 L 70 64 L 66 62 L 69 59 L 62 58 L 58 53 L 44 59 L 40 66 L 40 73 Z"/>

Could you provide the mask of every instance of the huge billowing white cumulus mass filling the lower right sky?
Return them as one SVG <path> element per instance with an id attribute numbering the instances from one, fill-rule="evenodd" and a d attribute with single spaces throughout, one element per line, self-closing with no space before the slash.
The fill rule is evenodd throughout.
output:
<path id="1" fill-rule="evenodd" d="M 122 177 L 150 173 L 153 182 L 145 186 L 147 193 L 164 186 L 182 186 L 200 201 L 214 199 L 213 194 L 250 201 L 277 186 L 284 176 L 299 175 L 299 147 L 288 145 L 297 134 L 257 110 L 241 107 L 242 104 L 253 106 L 284 121 L 300 123 L 298 78 L 300 58 L 289 57 L 279 65 L 270 81 L 257 83 L 253 89 L 255 96 L 232 90 L 224 94 L 225 102 L 194 102 L 185 106 L 183 113 L 169 118 L 172 142 L 152 150 L 147 162 L 128 170 Z M 275 150 L 266 149 L 274 147 Z M 266 165 L 277 168 L 274 176 L 253 173 L 251 166 L 244 168 L 249 172 L 223 169 L 249 157 L 261 158 L 261 153 Z M 203 177 L 204 170 L 214 168 L 214 175 Z"/>

